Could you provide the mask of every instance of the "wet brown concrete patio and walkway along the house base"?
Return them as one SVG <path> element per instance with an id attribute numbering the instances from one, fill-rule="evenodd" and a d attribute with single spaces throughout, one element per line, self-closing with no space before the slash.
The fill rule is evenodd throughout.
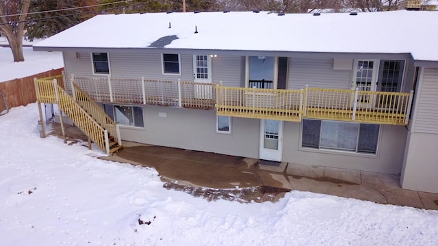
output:
<path id="1" fill-rule="evenodd" d="M 59 126 L 56 128 L 53 124 L 51 134 L 59 135 Z M 73 126 L 66 130 L 71 139 L 81 136 L 78 131 Z M 123 146 L 120 152 L 101 159 L 154 167 L 167 189 L 207 200 L 275 202 L 285 192 L 298 190 L 380 204 L 438 209 L 438 194 L 401 189 L 399 178 L 394 175 L 294 163 L 281 163 L 276 167 L 261 165 L 257 159 L 129 141 L 123 141 Z"/>

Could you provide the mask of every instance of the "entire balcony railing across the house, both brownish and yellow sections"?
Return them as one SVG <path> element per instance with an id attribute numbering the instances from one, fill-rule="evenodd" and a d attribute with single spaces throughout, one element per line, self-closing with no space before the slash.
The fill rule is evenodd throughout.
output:
<path id="1" fill-rule="evenodd" d="M 412 93 L 305 87 L 273 90 L 214 83 L 73 77 L 93 100 L 211 109 L 218 115 L 300 121 L 302 118 L 407 125 Z"/>

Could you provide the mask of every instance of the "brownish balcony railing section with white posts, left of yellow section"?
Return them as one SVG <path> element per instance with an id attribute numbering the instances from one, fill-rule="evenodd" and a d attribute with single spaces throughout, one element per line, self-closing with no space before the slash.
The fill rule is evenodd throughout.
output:
<path id="1" fill-rule="evenodd" d="M 72 81 L 99 102 L 212 109 L 216 96 L 212 83 L 75 76 Z"/>

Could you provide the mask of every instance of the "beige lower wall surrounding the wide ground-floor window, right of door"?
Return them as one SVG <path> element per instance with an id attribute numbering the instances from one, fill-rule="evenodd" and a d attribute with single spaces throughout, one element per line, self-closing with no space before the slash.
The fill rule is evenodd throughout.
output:
<path id="1" fill-rule="evenodd" d="M 301 123 L 285 122 L 283 161 L 323 165 L 385 174 L 400 174 L 406 143 L 404 126 L 383 125 L 377 155 L 300 148 Z"/>

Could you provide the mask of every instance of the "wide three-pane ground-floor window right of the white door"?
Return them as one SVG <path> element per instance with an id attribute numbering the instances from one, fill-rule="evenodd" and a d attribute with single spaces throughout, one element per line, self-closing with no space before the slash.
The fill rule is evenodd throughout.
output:
<path id="1" fill-rule="evenodd" d="M 376 154 L 380 125 L 303 120 L 302 148 Z"/>

